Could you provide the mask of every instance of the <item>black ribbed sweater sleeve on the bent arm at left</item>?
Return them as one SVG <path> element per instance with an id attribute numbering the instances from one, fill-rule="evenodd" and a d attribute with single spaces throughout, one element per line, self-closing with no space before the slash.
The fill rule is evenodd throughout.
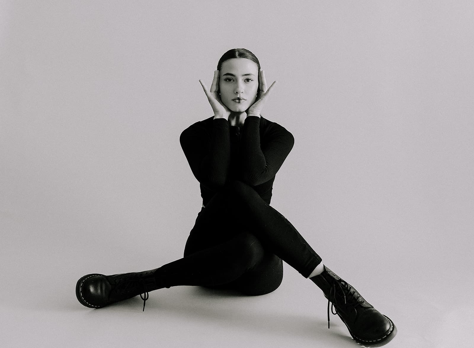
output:
<path id="1" fill-rule="evenodd" d="M 211 134 L 199 123 L 189 126 L 180 135 L 184 155 L 198 181 L 211 189 L 226 183 L 230 165 L 230 134 L 226 119 L 212 120 Z"/>

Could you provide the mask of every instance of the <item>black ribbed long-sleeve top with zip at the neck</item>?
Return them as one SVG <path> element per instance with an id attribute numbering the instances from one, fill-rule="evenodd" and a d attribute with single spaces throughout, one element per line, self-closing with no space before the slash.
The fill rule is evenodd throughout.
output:
<path id="1" fill-rule="evenodd" d="M 200 183 L 203 205 L 230 179 L 250 185 L 270 204 L 275 174 L 292 150 L 294 138 L 264 117 L 247 116 L 239 127 L 212 116 L 182 131 L 180 143 Z"/>

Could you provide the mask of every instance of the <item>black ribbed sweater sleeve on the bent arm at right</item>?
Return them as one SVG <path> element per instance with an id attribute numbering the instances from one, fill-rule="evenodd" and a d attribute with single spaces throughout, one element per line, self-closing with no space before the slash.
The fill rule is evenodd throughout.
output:
<path id="1" fill-rule="evenodd" d="M 260 185 L 273 178 L 294 145 L 294 137 L 283 126 L 273 124 L 260 139 L 260 117 L 247 116 L 244 122 L 240 162 L 242 179 L 248 185 Z"/>

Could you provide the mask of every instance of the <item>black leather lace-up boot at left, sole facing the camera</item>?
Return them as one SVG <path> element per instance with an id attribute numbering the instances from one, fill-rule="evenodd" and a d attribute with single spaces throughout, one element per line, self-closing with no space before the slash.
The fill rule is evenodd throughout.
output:
<path id="1" fill-rule="evenodd" d="M 156 289 L 155 270 L 112 276 L 87 274 L 77 281 L 76 297 L 86 307 L 100 308 L 140 295 L 145 311 L 148 291 Z"/>

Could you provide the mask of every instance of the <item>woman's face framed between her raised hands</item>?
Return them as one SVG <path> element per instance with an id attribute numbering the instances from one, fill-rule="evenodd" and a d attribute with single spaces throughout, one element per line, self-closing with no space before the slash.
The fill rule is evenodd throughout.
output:
<path id="1" fill-rule="evenodd" d="M 247 58 L 232 58 L 219 71 L 220 100 L 234 112 L 246 111 L 255 103 L 258 65 Z"/>

